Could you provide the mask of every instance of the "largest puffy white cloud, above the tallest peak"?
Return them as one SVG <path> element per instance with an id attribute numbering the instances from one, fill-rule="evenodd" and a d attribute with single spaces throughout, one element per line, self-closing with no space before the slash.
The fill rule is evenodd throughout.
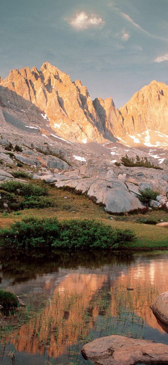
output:
<path id="1" fill-rule="evenodd" d="M 90 27 L 98 27 L 100 25 L 105 24 L 102 18 L 98 18 L 97 15 L 95 14 L 88 15 L 84 11 L 76 13 L 75 16 L 73 16 L 73 18 L 68 20 L 68 22 L 75 30 L 82 30 Z"/>

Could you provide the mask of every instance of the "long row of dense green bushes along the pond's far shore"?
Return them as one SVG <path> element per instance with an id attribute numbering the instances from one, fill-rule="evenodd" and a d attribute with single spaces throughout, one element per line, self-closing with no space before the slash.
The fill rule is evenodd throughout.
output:
<path id="1" fill-rule="evenodd" d="M 59 222 L 26 218 L 0 229 L 1 246 L 15 249 L 117 249 L 135 238 L 131 230 L 114 229 L 94 220 Z"/>

